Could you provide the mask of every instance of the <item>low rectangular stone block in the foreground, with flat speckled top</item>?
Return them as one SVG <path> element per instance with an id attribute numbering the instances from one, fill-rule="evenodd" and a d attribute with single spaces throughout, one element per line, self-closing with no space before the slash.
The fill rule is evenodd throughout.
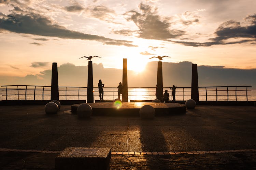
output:
<path id="1" fill-rule="evenodd" d="M 109 169 L 110 148 L 66 148 L 55 157 L 56 170 Z"/>

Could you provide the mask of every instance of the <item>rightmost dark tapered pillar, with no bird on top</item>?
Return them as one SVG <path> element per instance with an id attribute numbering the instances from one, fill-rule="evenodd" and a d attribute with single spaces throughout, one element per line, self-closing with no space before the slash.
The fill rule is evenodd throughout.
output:
<path id="1" fill-rule="evenodd" d="M 197 64 L 192 64 L 191 99 L 199 101 Z"/>

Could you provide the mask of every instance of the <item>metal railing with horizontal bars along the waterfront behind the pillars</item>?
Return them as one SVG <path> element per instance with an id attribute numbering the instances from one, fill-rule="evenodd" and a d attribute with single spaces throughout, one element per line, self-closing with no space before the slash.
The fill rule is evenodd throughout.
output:
<path id="1" fill-rule="evenodd" d="M 25 100 L 27 100 L 27 97 L 32 96 L 32 100 L 35 100 L 37 96 L 42 96 L 42 100 L 46 100 L 45 96 L 51 96 L 51 86 L 33 86 L 33 85 L 7 85 L 2 86 L 5 87 L 5 100 L 8 100 L 8 96 L 17 96 L 17 99 L 20 100 L 21 96 L 25 96 Z M 207 86 L 207 87 L 199 87 L 199 97 L 205 97 L 205 100 L 207 101 L 209 97 L 215 97 L 216 101 L 218 99 L 227 97 L 227 101 L 230 100 L 230 98 L 235 97 L 236 101 L 238 97 L 246 97 L 246 101 L 248 101 L 248 97 L 251 97 L 251 95 L 248 95 L 248 92 L 251 90 L 248 90 L 252 86 Z M 95 89 L 98 89 L 98 87 L 94 87 Z M 242 89 L 241 89 L 242 88 Z M 170 100 L 172 100 L 172 90 L 169 87 L 163 87 L 163 92 L 165 90 L 168 90 L 170 92 Z M 23 93 L 22 93 L 23 92 Z M 30 92 L 30 93 L 29 93 Z M 95 90 L 96 92 L 94 96 L 96 97 L 98 90 Z M 233 92 L 233 94 L 232 94 Z M 241 94 L 241 92 L 244 92 L 245 94 Z M 205 93 L 205 94 L 202 94 Z M 71 86 L 60 86 L 59 87 L 59 96 L 65 96 L 65 99 L 67 100 L 67 97 L 73 96 L 77 97 L 78 100 L 83 100 L 87 96 L 87 87 L 71 87 Z M 117 88 L 116 87 L 104 87 L 104 97 L 108 97 L 109 99 L 115 99 L 117 98 Z M 185 98 L 191 96 L 191 87 L 177 87 L 175 97 L 181 98 L 181 100 L 185 100 Z M 219 97 L 219 98 L 218 98 Z M 152 100 L 155 98 L 155 87 L 128 87 L 128 98 L 130 100 L 137 100 L 139 98 L 144 98 L 148 100 Z M 29 99 L 31 100 L 31 99 Z M 74 99 L 73 99 L 74 100 Z"/>

